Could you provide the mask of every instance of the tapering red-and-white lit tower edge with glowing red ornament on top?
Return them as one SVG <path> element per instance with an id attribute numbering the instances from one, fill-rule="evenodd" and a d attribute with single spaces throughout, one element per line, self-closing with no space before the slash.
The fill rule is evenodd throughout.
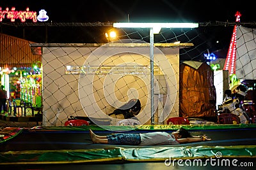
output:
<path id="1" fill-rule="evenodd" d="M 235 17 L 236 22 L 240 22 L 241 13 L 237 11 Z M 230 46 L 228 48 L 227 59 L 223 67 L 224 70 L 228 70 L 230 75 L 236 74 L 236 31 L 237 25 L 234 26 Z"/>

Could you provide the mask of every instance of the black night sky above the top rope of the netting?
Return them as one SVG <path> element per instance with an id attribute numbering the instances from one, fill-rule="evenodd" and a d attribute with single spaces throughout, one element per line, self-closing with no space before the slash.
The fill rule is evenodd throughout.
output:
<path id="1" fill-rule="evenodd" d="M 237 2 L 237 3 L 236 3 Z M 16 10 L 45 9 L 52 22 L 205 22 L 209 20 L 235 20 L 236 11 L 241 21 L 255 20 L 253 1 L 202 1 L 202 0 L 73 0 L 35 1 L 1 0 L 2 9 L 15 6 Z"/>

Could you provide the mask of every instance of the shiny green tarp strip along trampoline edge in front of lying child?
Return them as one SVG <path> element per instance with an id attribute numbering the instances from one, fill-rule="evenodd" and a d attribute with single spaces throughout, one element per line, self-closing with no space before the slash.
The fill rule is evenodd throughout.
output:
<path id="1" fill-rule="evenodd" d="M 97 148 L 90 150 L 31 150 L 1 152 L 0 165 L 67 164 L 84 162 L 147 162 L 174 159 L 255 158 L 256 145 L 180 146 L 154 148 Z"/>

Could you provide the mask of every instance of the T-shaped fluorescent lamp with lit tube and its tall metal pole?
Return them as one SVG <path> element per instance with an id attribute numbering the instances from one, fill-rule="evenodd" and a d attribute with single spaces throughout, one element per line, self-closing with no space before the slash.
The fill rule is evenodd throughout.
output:
<path id="1" fill-rule="evenodd" d="M 161 28 L 195 28 L 198 23 L 114 23 L 116 28 L 150 28 L 150 102 L 151 124 L 154 124 L 154 34 L 159 34 Z"/>

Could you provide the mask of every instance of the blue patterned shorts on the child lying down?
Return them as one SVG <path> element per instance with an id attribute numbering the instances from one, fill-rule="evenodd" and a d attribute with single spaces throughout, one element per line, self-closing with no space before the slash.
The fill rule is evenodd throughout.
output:
<path id="1" fill-rule="evenodd" d="M 113 145 L 140 145 L 140 134 L 112 134 L 108 135 L 108 144 Z"/>

